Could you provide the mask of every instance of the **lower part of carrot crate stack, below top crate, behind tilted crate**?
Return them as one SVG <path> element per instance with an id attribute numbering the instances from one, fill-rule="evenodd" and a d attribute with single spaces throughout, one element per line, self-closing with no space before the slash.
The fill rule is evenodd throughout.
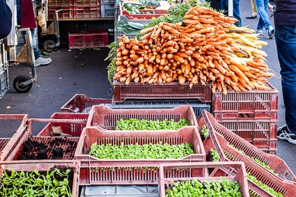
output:
<path id="1" fill-rule="evenodd" d="M 248 120 L 231 119 L 221 120 L 218 123 L 264 152 L 276 154 L 276 120 L 256 118 Z"/>

